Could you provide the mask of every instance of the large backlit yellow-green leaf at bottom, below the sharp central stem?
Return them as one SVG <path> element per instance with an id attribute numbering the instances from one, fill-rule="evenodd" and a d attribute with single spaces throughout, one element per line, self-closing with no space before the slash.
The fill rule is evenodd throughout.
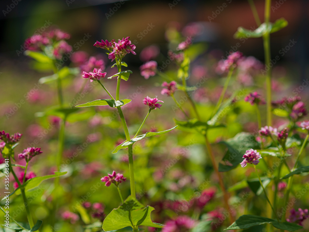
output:
<path id="1" fill-rule="evenodd" d="M 112 210 L 103 221 L 103 230 L 120 230 L 127 226 L 150 226 L 163 228 L 164 225 L 151 221 L 150 213 L 154 208 L 151 206 L 144 207 L 132 196 L 129 196 L 125 202 Z"/>

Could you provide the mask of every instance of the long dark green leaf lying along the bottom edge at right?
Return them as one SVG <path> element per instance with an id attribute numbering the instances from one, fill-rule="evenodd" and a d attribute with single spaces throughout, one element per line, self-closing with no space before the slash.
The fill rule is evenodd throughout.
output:
<path id="1" fill-rule="evenodd" d="M 225 230 L 239 230 L 239 229 L 248 229 L 252 226 L 258 226 L 262 224 L 272 224 L 277 229 L 295 231 L 303 229 L 303 226 L 298 226 L 297 224 L 290 222 L 278 222 L 274 219 L 260 217 L 255 215 L 243 215 L 240 216 L 231 226 Z"/>

